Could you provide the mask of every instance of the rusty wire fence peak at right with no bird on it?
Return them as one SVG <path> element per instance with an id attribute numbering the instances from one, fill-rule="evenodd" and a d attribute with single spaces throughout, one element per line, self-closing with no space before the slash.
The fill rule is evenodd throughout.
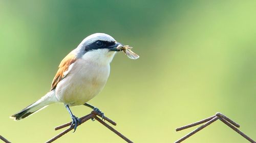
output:
<path id="1" fill-rule="evenodd" d="M 191 135 L 197 133 L 198 131 L 202 130 L 203 128 L 207 127 L 208 125 L 210 125 L 211 123 L 214 123 L 217 120 L 222 121 L 224 124 L 226 124 L 228 127 L 230 127 L 231 129 L 233 129 L 234 131 L 236 131 L 237 133 L 239 133 L 240 135 L 242 135 L 244 138 L 246 138 L 248 141 L 252 142 L 252 143 L 256 143 L 253 139 L 251 139 L 249 136 L 247 136 L 246 134 L 244 134 L 243 132 L 241 132 L 238 128 L 240 127 L 239 124 L 237 124 L 236 122 L 232 121 L 231 119 L 227 118 L 225 115 L 223 115 L 220 112 L 217 112 L 214 116 L 211 116 L 209 118 L 206 118 L 204 120 L 177 128 L 176 131 L 181 131 L 190 127 L 194 127 L 200 124 L 205 123 L 204 125 L 198 127 L 197 129 L 195 129 L 194 131 L 188 133 L 187 135 L 185 135 L 184 137 L 182 137 L 181 139 L 175 141 L 175 143 L 179 143 L 183 140 L 185 140 L 186 138 L 190 137 Z"/>

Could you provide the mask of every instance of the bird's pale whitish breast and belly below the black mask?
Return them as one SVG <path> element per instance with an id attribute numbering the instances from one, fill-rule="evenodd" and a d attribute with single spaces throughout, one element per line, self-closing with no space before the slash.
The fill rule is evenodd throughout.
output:
<path id="1" fill-rule="evenodd" d="M 84 54 L 73 63 L 67 76 L 57 84 L 57 99 L 72 106 L 84 104 L 95 97 L 108 80 L 110 62 L 114 55 L 115 52 L 107 49 Z"/>

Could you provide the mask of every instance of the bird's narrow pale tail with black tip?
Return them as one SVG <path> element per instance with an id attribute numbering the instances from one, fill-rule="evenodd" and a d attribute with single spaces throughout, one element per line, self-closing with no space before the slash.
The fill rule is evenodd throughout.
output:
<path id="1" fill-rule="evenodd" d="M 40 109 L 43 109 L 44 107 L 47 107 L 47 105 L 57 102 L 56 96 L 55 96 L 55 90 L 50 91 L 45 96 L 37 100 L 35 103 L 29 105 L 28 107 L 24 108 L 23 110 L 15 113 L 10 118 L 14 119 L 15 121 L 24 119 L 36 111 L 39 111 Z"/>

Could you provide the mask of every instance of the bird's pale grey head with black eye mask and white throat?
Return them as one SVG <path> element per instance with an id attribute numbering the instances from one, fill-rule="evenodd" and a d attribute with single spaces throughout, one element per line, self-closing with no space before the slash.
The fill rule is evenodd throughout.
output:
<path id="1" fill-rule="evenodd" d="M 99 63 L 110 63 L 116 51 L 120 51 L 117 49 L 119 44 L 108 34 L 95 33 L 86 37 L 78 45 L 76 48 L 77 57 Z"/>

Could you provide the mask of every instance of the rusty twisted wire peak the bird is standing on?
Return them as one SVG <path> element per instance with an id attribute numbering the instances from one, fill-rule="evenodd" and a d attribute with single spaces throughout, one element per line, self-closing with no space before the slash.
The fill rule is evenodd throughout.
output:
<path id="1" fill-rule="evenodd" d="M 118 136 L 120 136 L 122 139 L 124 139 L 125 141 L 129 142 L 129 143 L 132 143 L 133 141 L 131 141 L 130 139 L 128 139 L 127 137 L 125 137 L 124 135 L 122 135 L 120 132 L 118 132 L 117 130 L 115 130 L 113 127 L 111 127 L 110 125 L 106 124 L 104 121 L 102 121 L 103 119 L 105 121 L 108 121 L 109 123 L 111 123 L 112 125 L 116 126 L 116 123 L 112 120 L 110 120 L 108 117 L 103 117 L 102 120 L 99 119 L 97 116 L 100 116 L 101 117 L 101 114 L 97 111 L 92 111 L 91 113 L 89 113 L 88 115 L 86 116 L 83 116 L 80 119 L 81 124 L 83 124 L 84 122 L 90 120 L 90 119 L 95 119 L 97 120 L 99 123 L 101 123 L 102 125 L 104 125 L 105 127 L 109 128 L 111 131 L 113 131 L 115 134 L 117 134 Z M 62 128 L 65 128 L 65 127 L 68 127 L 68 126 L 71 126 L 71 123 L 72 122 L 69 122 L 69 123 L 66 123 L 66 124 L 63 124 L 63 125 L 60 125 L 58 127 L 55 127 L 55 130 L 59 130 L 59 129 L 62 129 Z M 78 125 L 78 126 L 79 126 Z M 50 143 L 50 142 L 53 142 L 54 140 L 58 139 L 59 137 L 61 137 L 62 135 L 68 133 L 69 131 L 71 131 L 72 129 L 74 128 L 74 126 L 71 126 L 70 128 L 62 131 L 61 133 L 59 133 L 58 135 L 54 136 L 53 138 L 51 138 L 50 140 L 46 141 L 46 143 Z"/>

